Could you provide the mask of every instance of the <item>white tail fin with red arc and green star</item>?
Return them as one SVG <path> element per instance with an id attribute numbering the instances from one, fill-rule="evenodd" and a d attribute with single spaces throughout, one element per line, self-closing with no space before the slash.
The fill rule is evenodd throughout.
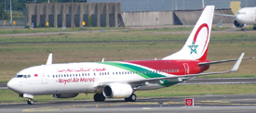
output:
<path id="1" fill-rule="evenodd" d="M 206 6 L 180 51 L 163 59 L 206 60 L 215 6 Z"/>

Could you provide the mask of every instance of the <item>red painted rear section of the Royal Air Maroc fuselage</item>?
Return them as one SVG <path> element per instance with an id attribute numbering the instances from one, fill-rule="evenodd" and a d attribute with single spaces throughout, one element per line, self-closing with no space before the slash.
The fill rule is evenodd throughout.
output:
<path id="1" fill-rule="evenodd" d="M 186 70 L 184 64 L 188 64 L 189 74 L 196 74 L 209 69 L 209 66 L 198 66 L 199 62 L 209 62 L 209 60 L 199 61 L 199 60 L 136 60 L 136 61 L 123 61 L 131 64 L 141 65 L 142 67 L 147 67 L 149 69 L 164 70 L 168 69 L 168 74 L 174 75 L 185 75 Z M 172 72 L 169 69 L 179 69 L 179 72 Z"/>

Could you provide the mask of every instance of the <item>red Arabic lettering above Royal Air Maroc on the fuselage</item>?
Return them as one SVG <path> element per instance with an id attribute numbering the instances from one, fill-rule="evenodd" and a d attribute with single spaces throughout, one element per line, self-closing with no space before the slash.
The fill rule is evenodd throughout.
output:
<path id="1" fill-rule="evenodd" d="M 58 69 L 57 72 L 88 72 L 88 71 L 104 71 L 106 68 L 80 68 L 80 69 Z"/>

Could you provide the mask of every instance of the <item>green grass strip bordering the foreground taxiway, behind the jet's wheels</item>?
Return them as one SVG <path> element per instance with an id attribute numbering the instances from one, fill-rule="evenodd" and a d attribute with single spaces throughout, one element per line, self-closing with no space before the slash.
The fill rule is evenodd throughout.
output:
<path id="1" fill-rule="evenodd" d="M 137 91 L 138 97 L 164 97 L 189 96 L 205 94 L 255 94 L 256 84 L 195 84 L 195 85 L 174 85 L 163 89 L 151 91 Z M 0 102 L 25 102 L 26 98 L 21 98 L 18 94 L 10 90 L 0 90 Z M 79 94 L 74 98 L 59 99 L 51 95 L 34 95 L 34 101 L 63 101 L 63 100 L 84 100 L 93 99 L 93 94 Z"/>

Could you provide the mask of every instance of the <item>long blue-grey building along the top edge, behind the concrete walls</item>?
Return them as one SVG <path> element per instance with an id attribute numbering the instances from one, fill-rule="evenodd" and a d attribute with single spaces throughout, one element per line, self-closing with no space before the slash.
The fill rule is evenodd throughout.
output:
<path id="1" fill-rule="evenodd" d="M 230 8 L 230 3 L 240 1 L 241 7 L 256 6 L 256 0 L 204 0 L 205 6 Z M 88 0 L 88 3 L 121 3 L 121 12 L 173 11 L 202 9 L 202 0 Z"/>

